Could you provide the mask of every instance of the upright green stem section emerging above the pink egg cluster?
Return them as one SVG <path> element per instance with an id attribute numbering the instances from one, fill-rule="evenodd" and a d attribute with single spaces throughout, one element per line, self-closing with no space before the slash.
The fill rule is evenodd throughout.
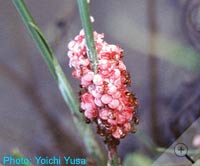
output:
<path id="1" fill-rule="evenodd" d="M 92 69 L 94 73 L 97 73 L 98 60 L 97 60 L 96 46 L 94 43 L 93 26 L 90 20 L 89 4 L 87 0 L 77 0 L 77 2 L 78 2 L 82 26 L 86 36 L 88 57 L 92 64 Z"/>

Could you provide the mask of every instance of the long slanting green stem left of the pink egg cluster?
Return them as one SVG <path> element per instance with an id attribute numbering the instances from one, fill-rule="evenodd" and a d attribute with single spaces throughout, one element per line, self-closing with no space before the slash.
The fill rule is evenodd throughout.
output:
<path id="1" fill-rule="evenodd" d="M 79 103 L 75 97 L 72 87 L 67 80 L 59 62 L 57 61 L 54 53 L 52 52 L 48 42 L 43 36 L 40 29 L 35 24 L 33 17 L 31 16 L 24 0 L 13 0 L 18 13 L 20 14 L 24 24 L 29 30 L 32 38 L 35 41 L 36 46 L 40 50 L 42 57 L 48 68 L 56 80 L 59 90 L 70 108 L 73 121 L 77 127 L 78 132 L 83 139 L 85 147 L 88 153 L 101 165 L 105 165 L 105 157 L 101 147 L 95 139 L 92 129 L 83 121 L 82 114 L 79 112 Z"/>

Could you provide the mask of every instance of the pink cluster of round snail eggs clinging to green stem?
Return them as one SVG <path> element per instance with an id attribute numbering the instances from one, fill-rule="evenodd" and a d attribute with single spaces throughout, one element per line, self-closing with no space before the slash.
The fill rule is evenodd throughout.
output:
<path id="1" fill-rule="evenodd" d="M 80 102 L 85 117 L 97 124 L 100 135 L 120 139 L 135 130 L 138 103 L 127 89 L 131 80 L 122 61 L 123 50 L 103 38 L 103 34 L 94 32 L 97 73 L 88 59 L 83 30 L 68 44 L 69 65 L 74 68 L 73 77 L 81 80 Z"/>

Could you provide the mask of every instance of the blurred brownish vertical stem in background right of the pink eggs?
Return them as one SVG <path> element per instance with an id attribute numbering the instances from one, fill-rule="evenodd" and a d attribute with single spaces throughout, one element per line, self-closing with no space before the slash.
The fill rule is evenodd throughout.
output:
<path id="1" fill-rule="evenodd" d="M 156 0 L 147 1 L 147 12 L 148 12 L 148 26 L 149 26 L 149 93 L 150 93 L 150 126 L 151 135 L 155 143 L 161 144 L 164 139 L 160 139 L 158 133 L 160 133 L 160 128 L 158 127 L 159 117 L 158 117 L 158 62 L 156 58 L 157 49 L 157 18 L 156 18 Z"/>

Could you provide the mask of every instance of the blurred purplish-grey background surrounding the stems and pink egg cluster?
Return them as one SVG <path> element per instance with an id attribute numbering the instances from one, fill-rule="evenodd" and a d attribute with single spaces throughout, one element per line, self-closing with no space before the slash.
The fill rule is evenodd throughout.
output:
<path id="1" fill-rule="evenodd" d="M 67 44 L 81 29 L 76 1 L 25 2 L 78 94 L 67 57 Z M 91 14 L 94 29 L 124 49 L 139 100 L 138 132 L 121 141 L 119 155 L 155 160 L 155 148 L 167 148 L 200 115 L 200 1 L 91 0 Z M 88 157 L 11 0 L 0 0 L 0 20 L 0 156 L 18 148 L 30 157 Z"/>

